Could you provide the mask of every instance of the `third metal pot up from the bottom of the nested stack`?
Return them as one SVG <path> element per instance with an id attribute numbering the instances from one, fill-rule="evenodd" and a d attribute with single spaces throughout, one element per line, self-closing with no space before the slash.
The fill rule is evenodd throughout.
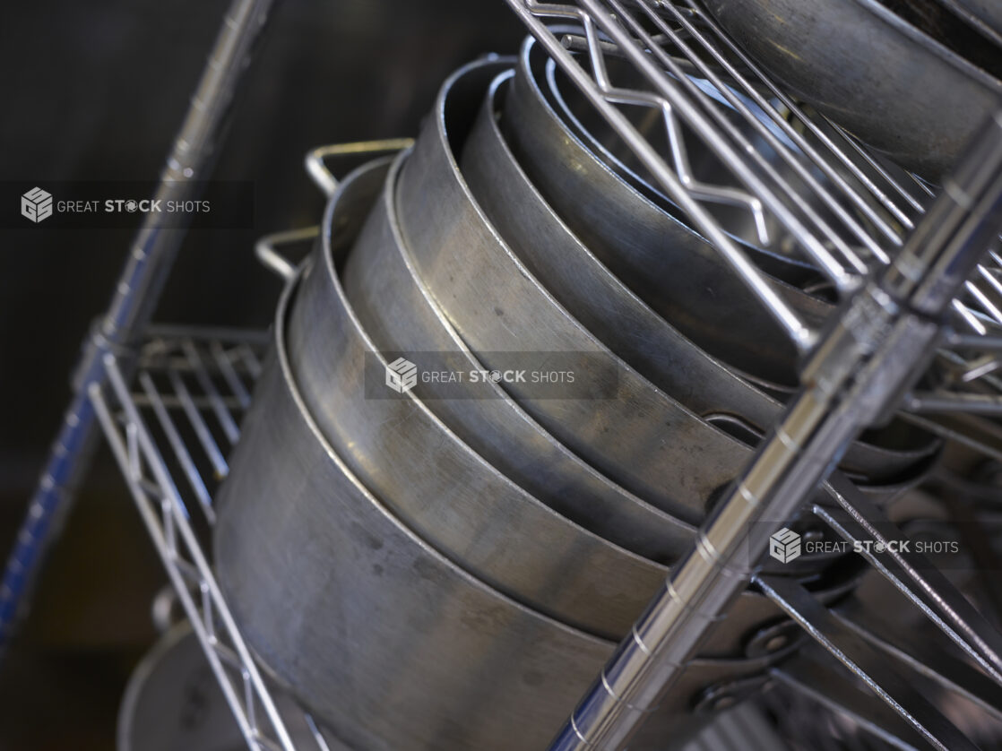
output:
<path id="1" fill-rule="evenodd" d="M 488 368 L 466 346 L 424 285 L 397 224 L 399 162 L 390 170 L 365 232 L 345 262 L 345 293 L 382 351 L 405 351 L 423 369 Z M 337 242 L 337 238 L 335 238 Z M 609 542 L 667 564 L 691 545 L 695 528 L 645 504 L 550 436 L 496 384 L 469 389 L 419 383 L 413 394 L 481 457 L 557 513 Z M 490 391 L 490 397 L 474 393 Z"/>

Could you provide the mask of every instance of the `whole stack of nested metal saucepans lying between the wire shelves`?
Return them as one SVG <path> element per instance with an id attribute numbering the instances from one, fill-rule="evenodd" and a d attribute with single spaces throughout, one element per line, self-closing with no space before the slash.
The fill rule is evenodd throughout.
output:
<path id="1" fill-rule="evenodd" d="M 463 68 L 413 149 L 340 183 L 221 490 L 244 636 L 359 751 L 545 748 L 796 384 L 782 332 L 547 70 L 531 40 Z M 813 269 L 735 239 L 828 314 Z M 892 425 L 843 470 L 886 504 L 936 453 Z M 826 602 L 856 575 L 768 565 Z M 782 620 L 742 595 L 630 748 L 756 686 Z"/>

